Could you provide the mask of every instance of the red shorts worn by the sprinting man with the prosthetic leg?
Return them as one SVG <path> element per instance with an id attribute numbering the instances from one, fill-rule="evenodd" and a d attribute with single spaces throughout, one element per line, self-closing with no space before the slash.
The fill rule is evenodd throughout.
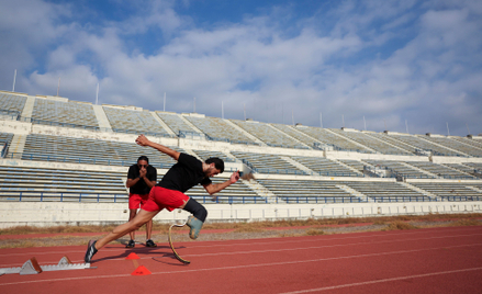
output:
<path id="1" fill-rule="evenodd" d="M 164 208 L 172 212 L 189 201 L 189 196 L 180 191 L 169 190 L 162 186 L 153 186 L 149 197 L 143 205 L 147 212 L 162 211 Z"/>

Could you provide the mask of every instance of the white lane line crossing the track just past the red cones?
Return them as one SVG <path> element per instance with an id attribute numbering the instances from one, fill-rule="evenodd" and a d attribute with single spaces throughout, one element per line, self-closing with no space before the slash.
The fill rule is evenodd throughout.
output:
<path id="1" fill-rule="evenodd" d="M 438 248 L 424 248 L 424 249 L 416 249 L 416 250 L 397 250 L 397 251 L 391 251 L 391 252 L 377 252 L 377 253 L 368 253 L 368 255 L 335 257 L 335 258 L 320 258 L 320 259 L 310 259 L 310 260 L 281 261 L 281 262 L 245 264 L 245 265 L 229 265 L 229 267 L 221 267 L 221 268 L 205 268 L 205 269 L 192 269 L 192 270 L 180 270 L 180 271 L 165 271 L 165 272 L 153 272 L 152 274 L 178 274 L 178 273 L 190 273 L 190 272 L 202 272 L 202 271 L 206 272 L 206 271 L 224 271 L 224 270 L 251 269 L 251 268 L 261 268 L 261 267 L 278 267 L 278 265 L 300 264 L 300 263 L 332 261 L 332 260 L 344 260 L 344 259 L 370 258 L 370 257 L 380 257 L 380 256 L 414 253 L 414 252 L 431 251 L 431 250 L 440 250 L 440 249 L 445 250 L 445 249 L 449 249 L 449 248 L 473 247 L 473 246 L 481 246 L 481 245 L 482 244 L 473 244 L 473 245 L 460 245 L 460 246 L 438 247 Z M 125 276 L 131 276 L 131 274 L 91 275 L 91 276 L 79 276 L 79 278 L 65 278 L 65 279 L 48 279 L 48 280 L 36 280 L 36 281 L 11 282 L 11 283 L 0 283 L 0 286 L 30 284 L 30 283 L 43 283 L 43 282 L 64 282 L 64 281 L 74 281 L 74 280 L 88 280 L 88 279 L 125 278 Z"/>

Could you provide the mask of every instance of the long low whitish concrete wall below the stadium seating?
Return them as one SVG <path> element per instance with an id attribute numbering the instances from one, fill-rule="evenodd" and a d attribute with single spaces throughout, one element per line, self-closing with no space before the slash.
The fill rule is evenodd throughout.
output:
<path id="1" fill-rule="evenodd" d="M 481 213 L 480 202 L 339 204 L 205 204 L 208 222 L 255 222 L 330 217 Z M 183 223 L 189 213 L 162 211 L 154 220 Z M 128 219 L 127 203 L 4 202 L 0 228 L 14 226 L 107 225 Z"/>

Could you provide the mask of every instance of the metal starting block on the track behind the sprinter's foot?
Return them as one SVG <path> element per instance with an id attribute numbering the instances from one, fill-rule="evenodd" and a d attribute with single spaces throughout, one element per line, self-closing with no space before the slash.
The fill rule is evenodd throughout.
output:
<path id="1" fill-rule="evenodd" d="M 52 272 L 52 271 L 65 271 L 65 270 L 83 270 L 83 269 L 96 269 L 97 267 L 90 267 L 90 263 L 72 263 L 70 259 L 65 256 L 60 259 L 58 264 L 52 265 L 40 265 L 35 257 L 29 259 L 20 268 L 4 268 L 0 269 L 0 275 L 8 273 L 20 273 L 20 274 L 37 274 L 41 272 Z"/>

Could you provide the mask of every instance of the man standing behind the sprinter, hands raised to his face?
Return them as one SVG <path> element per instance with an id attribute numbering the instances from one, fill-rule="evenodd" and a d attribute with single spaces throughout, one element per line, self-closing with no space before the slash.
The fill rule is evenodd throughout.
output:
<path id="1" fill-rule="evenodd" d="M 133 219 L 137 214 L 137 210 L 142 208 L 149 197 L 150 189 L 156 184 L 157 170 L 149 165 L 149 159 L 146 156 L 141 156 L 137 159 L 137 165 L 133 165 L 127 171 L 128 188 L 128 220 Z M 156 244 L 150 239 L 153 233 L 153 219 L 146 223 L 146 246 L 156 247 Z M 125 248 L 133 248 L 135 246 L 135 230 L 130 233 L 131 240 Z"/>

